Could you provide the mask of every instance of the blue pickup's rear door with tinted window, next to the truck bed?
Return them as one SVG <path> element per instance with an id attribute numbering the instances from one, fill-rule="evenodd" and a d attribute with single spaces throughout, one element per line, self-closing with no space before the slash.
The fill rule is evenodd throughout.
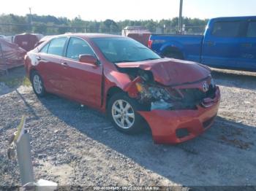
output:
<path id="1" fill-rule="evenodd" d="M 202 63 L 224 68 L 237 67 L 241 25 L 240 20 L 222 20 L 208 28 L 202 45 Z"/>

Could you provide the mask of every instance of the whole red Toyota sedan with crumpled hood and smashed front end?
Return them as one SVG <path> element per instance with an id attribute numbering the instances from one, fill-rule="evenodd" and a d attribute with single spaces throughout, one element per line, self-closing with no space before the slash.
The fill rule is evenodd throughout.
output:
<path id="1" fill-rule="evenodd" d="M 124 133 L 147 123 L 158 144 L 195 138 L 210 128 L 219 109 L 219 87 L 208 67 L 160 58 L 123 36 L 55 36 L 25 61 L 38 96 L 54 93 L 107 112 Z"/>

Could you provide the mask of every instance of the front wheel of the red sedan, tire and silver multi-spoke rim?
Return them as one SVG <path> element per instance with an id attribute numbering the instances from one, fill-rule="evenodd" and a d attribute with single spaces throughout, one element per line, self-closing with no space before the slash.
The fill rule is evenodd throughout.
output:
<path id="1" fill-rule="evenodd" d="M 108 101 L 107 113 L 117 130 L 134 134 L 140 133 L 146 126 L 143 117 L 137 112 L 142 109 L 143 106 L 126 93 L 117 93 Z"/>

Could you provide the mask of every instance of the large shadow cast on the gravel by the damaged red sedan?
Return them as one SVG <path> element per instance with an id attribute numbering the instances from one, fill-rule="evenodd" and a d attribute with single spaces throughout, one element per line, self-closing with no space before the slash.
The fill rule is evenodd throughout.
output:
<path id="1" fill-rule="evenodd" d="M 217 117 L 212 128 L 192 141 L 159 145 L 152 141 L 150 130 L 134 136 L 119 133 L 94 109 L 56 95 L 40 101 L 71 128 L 171 182 L 186 186 L 255 184 L 256 127 Z"/>

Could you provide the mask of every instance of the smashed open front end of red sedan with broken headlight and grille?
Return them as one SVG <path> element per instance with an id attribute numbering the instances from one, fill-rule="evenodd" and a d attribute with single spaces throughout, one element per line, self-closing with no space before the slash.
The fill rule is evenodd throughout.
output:
<path id="1" fill-rule="evenodd" d="M 130 90 L 138 91 L 135 98 L 149 110 L 197 109 L 198 105 L 205 106 L 203 104 L 204 99 L 215 97 L 216 87 L 211 75 L 199 82 L 165 86 L 154 81 L 151 71 L 132 68 L 123 68 L 120 71 L 129 75 L 132 82 L 134 82 L 133 85 L 136 87 L 130 88 Z M 192 87 L 187 88 L 188 84 L 192 84 Z"/>

